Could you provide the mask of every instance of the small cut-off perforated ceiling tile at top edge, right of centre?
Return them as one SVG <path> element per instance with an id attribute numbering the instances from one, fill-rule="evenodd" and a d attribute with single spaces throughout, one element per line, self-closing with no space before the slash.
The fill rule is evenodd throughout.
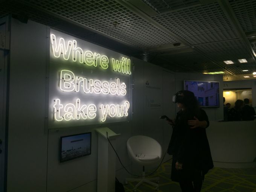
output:
<path id="1" fill-rule="evenodd" d="M 143 0 L 148 6 L 157 11 L 163 13 L 166 11 L 172 11 L 175 9 L 185 8 L 193 5 L 200 5 L 199 0 Z"/>

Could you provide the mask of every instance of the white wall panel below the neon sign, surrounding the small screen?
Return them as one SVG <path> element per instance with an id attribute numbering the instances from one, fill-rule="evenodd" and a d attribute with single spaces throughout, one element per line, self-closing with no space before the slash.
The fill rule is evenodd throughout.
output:
<path id="1" fill-rule="evenodd" d="M 91 155 L 59 162 L 60 137 L 91 132 Z M 97 179 L 98 135 L 94 128 L 52 130 L 48 141 L 47 192 L 65 192 Z"/>

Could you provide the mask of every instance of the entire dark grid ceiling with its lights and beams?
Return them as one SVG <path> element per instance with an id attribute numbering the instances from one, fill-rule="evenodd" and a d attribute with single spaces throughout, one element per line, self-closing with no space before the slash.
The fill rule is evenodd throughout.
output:
<path id="1" fill-rule="evenodd" d="M 140 1 L 145 10 L 153 10 L 151 16 L 143 12 L 145 7 L 136 7 L 136 0 L 4 0 L 0 18 L 25 15 L 175 72 L 223 71 L 224 81 L 230 81 L 245 79 L 256 69 L 248 50 L 251 45 L 256 51 L 256 0 Z M 243 58 L 248 63 L 238 62 Z"/>

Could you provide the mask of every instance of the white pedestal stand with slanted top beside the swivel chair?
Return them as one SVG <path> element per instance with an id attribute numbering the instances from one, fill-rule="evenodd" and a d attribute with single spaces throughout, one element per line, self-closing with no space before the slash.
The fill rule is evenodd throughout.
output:
<path id="1" fill-rule="evenodd" d="M 113 147 L 115 139 L 120 134 L 114 133 L 107 127 L 96 129 L 98 134 L 98 183 L 97 192 L 114 192 L 116 178 L 116 154 Z"/>

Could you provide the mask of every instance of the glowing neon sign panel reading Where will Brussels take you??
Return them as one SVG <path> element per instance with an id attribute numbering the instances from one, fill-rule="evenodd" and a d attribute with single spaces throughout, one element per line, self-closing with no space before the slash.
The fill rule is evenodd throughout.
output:
<path id="1" fill-rule="evenodd" d="M 49 128 L 128 121 L 128 56 L 50 30 Z"/>

